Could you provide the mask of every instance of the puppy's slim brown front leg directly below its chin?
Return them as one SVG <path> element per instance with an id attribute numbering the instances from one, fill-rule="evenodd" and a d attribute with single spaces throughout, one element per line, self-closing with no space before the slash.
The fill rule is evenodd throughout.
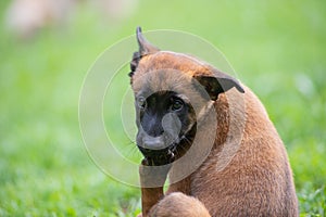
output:
<path id="1" fill-rule="evenodd" d="M 151 166 L 143 159 L 139 166 L 142 217 L 164 196 L 163 186 L 171 166 Z"/>

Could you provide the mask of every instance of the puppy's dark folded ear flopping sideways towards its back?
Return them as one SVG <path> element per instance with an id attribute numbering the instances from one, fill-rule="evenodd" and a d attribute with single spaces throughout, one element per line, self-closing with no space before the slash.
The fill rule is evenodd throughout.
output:
<path id="1" fill-rule="evenodd" d="M 237 79 L 218 71 L 214 72 L 214 76 L 197 75 L 193 76 L 193 78 L 205 88 L 213 101 L 217 100 L 220 93 L 226 92 L 234 87 L 237 88 L 239 92 L 244 93 L 243 88 Z"/>

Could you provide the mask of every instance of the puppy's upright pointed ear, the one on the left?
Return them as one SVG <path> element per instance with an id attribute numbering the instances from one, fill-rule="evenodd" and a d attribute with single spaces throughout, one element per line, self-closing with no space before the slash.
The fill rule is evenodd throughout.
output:
<path id="1" fill-rule="evenodd" d="M 131 60 L 131 63 L 130 63 L 131 72 L 129 73 L 130 77 L 134 75 L 134 72 L 136 71 L 136 68 L 138 66 L 139 60 L 143 55 L 148 55 L 148 54 L 155 53 L 155 52 L 160 51 L 160 49 L 152 46 L 148 40 L 146 40 L 146 38 L 141 34 L 141 28 L 140 27 L 137 27 L 137 29 L 136 29 L 136 37 L 137 37 L 137 42 L 138 42 L 139 50 L 137 52 L 135 52 L 134 55 L 133 55 L 133 60 Z"/>

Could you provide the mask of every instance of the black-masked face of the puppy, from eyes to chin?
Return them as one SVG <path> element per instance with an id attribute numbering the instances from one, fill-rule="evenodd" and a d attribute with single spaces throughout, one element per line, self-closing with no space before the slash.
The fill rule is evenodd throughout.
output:
<path id="1" fill-rule="evenodd" d="M 196 114 L 185 95 L 171 90 L 140 93 L 136 97 L 136 111 L 137 145 L 149 164 L 172 163 L 190 146 Z"/>

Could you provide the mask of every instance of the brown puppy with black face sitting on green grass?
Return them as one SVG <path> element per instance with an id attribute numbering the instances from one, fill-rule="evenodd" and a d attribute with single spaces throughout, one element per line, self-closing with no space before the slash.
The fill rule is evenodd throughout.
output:
<path id="1" fill-rule="evenodd" d="M 193 56 L 160 51 L 140 28 L 137 40 L 142 216 L 298 216 L 285 146 L 254 93 Z"/>

